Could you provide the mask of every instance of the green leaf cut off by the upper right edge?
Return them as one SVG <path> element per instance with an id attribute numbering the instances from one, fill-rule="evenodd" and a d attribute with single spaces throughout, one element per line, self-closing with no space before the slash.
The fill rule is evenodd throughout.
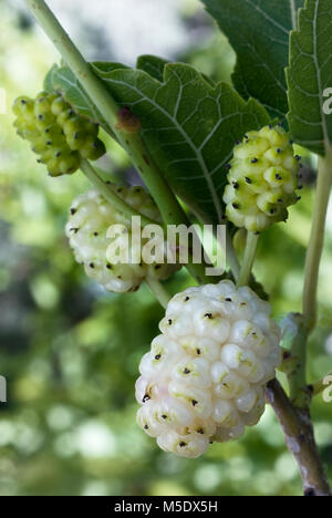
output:
<path id="1" fill-rule="evenodd" d="M 332 0 L 307 0 L 299 31 L 291 34 L 287 70 L 292 136 L 320 155 L 332 142 L 332 116 L 324 113 L 324 91 L 332 87 L 331 25 Z"/>

